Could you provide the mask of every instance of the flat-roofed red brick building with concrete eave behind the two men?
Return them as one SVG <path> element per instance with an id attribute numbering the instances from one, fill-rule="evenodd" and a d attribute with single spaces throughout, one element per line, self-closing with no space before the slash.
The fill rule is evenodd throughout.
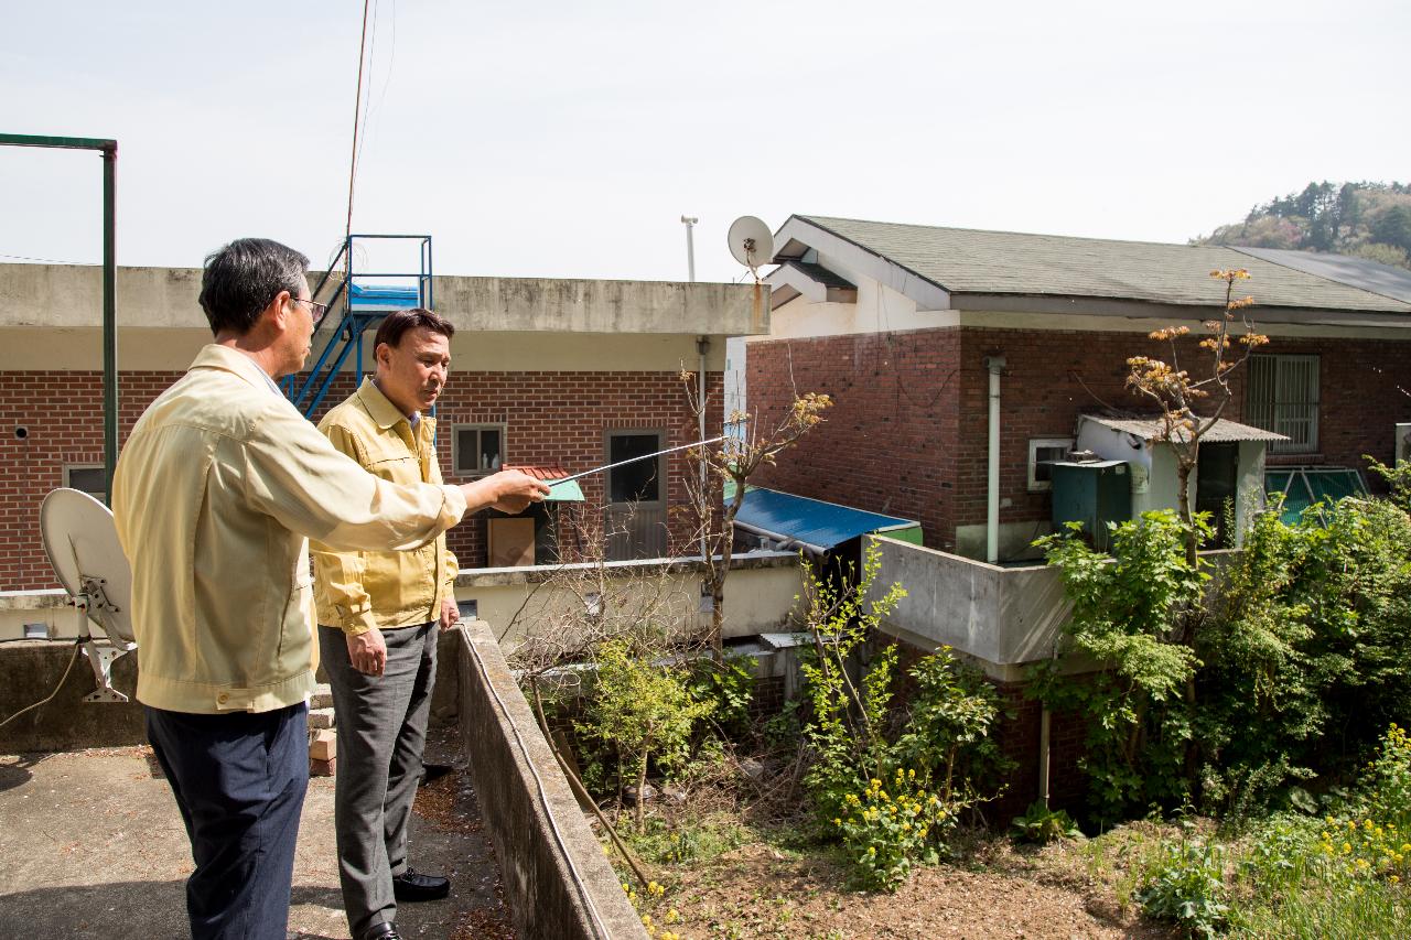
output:
<path id="1" fill-rule="evenodd" d="M 92 267 L 0 265 L 0 590 L 56 587 L 38 538 L 40 501 L 61 486 L 102 490 L 99 275 Z M 120 438 L 209 342 L 199 281 L 196 270 L 119 270 Z M 488 464 L 577 473 L 634 449 L 696 440 L 680 373 L 700 368 L 703 346 L 707 433 L 720 433 L 724 337 L 768 322 L 753 309 L 752 287 L 725 284 L 437 277 L 435 296 L 457 327 L 436 415 L 442 471 L 453 483 Z M 337 312 L 320 336 L 336 323 Z M 351 373 L 349 366 L 334 381 L 315 418 L 353 388 Z M 684 459 L 642 466 L 655 480 L 587 477 L 584 502 L 560 512 L 625 526 L 612 545 L 621 556 L 687 550 L 690 522 L 673 512 L 687 502 Z M 631 495 L 649 498 L 624 498 Z M 480 514 L 452 531 L 463 567 L 485 566 L 487 522 Z"/>

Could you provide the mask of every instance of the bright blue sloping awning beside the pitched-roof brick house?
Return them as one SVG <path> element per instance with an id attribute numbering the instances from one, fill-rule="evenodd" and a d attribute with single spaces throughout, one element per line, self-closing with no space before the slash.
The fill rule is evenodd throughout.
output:
<path id="1" fill-rule="evenodd" d="M 745 490 L 745 501 L 735 524 L 768 538 L 797 542 L 818 555 L 869 532 L 885 532 L 917 543 L 921 541 L 921 526 L 914 519 L 866 512 L 763 487 Z"/>

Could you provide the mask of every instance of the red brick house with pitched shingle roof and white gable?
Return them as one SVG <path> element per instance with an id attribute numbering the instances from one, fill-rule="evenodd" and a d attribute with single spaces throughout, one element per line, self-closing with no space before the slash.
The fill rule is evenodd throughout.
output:
<path id="1" fill-rule="evenodd" d="M 1212 270 L 1246 268 L 1270 336 L 1233 378 L 1225 418 L 1291 438 L 1268 464 L 1364 469 L 1411 422 L 1411 274 L 1355 258 L 790 217 L 768 278 L 772 327 L 746 342 L 751 408 L 792 390 L 834 397 L 825 425 L 762 486 L 919 519 L 926 545 L 983 558 L 986 361 L 999 381 L 1000 559 L 1048 529 L 1040 460 L 1082 414 L 1149 411 L 1132 356 L 1222 309 Z M 1038 464 L 1038 466 L 1036 466 Z M 1036 470 L 1040 478 L 1036 478 Z M 1374 484 L 1376 481 L 1369 480 Z"/>

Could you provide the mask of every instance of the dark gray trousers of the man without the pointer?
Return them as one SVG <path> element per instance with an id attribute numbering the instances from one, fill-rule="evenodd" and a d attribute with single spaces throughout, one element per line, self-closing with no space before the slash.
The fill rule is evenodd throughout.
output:
<path id="1" fill-rule="evenodd" d="M 333 823 L 343 908 L 354 937 L 396 920 L 392 878 L 406 871 L 406 828 L 422 778 L 422 748 L 436 680 L 436 624 L 384 629 L 387 669 L 349 662 L 347 639 L 319 627 L 333 689 L 339 752 Z"/>

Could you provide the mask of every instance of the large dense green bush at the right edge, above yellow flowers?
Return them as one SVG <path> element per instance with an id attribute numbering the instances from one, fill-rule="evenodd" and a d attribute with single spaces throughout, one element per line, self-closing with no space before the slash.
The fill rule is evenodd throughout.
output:
<path id="1" fill-rule="evenodd" d="M 1411 518 L 1342 500 L 1295 525 L 1261 514 L 1197 652 L 1204 802 L 1246 814 L 1349 773 L 1411 714 Z"/>

